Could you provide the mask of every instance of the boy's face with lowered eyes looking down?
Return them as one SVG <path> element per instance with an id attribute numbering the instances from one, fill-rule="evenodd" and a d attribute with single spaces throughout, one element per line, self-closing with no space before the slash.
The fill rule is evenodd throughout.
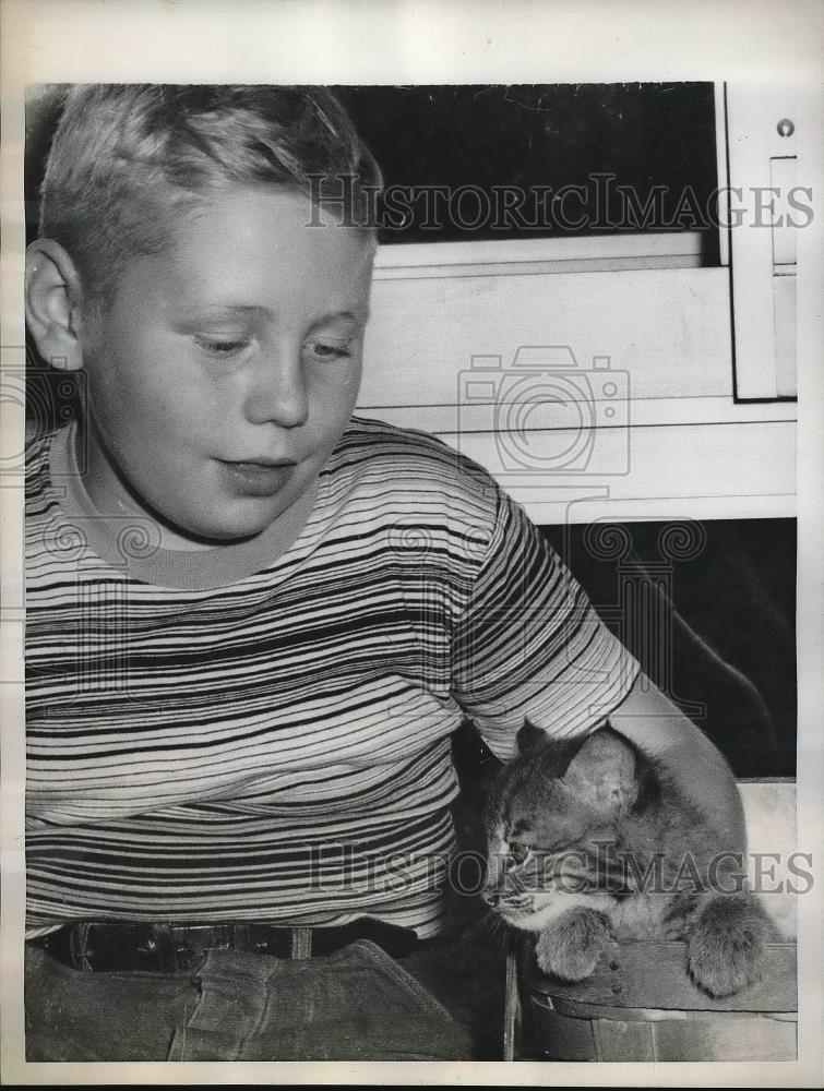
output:
<path id="1" fill-rule="evenodd" d="M 236 190 L 128 266 L 83 338 L 103 513 L 154 511 L 170 544 L 230 540 L 317 476 L 355 408 L 372 247 L 309 219 L 300 194 Z"/>

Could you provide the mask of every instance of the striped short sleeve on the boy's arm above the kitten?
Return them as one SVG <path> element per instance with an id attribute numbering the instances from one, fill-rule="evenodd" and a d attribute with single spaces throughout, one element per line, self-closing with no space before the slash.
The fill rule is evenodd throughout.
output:
<path id="1" fill-rule="evenodd" d="M 498 491 L 486 558 L 453 628 L 452 693 L 494 754 L 525 720 L 585 734 L 629 694 L 637 661 L 524 511 Z"/>

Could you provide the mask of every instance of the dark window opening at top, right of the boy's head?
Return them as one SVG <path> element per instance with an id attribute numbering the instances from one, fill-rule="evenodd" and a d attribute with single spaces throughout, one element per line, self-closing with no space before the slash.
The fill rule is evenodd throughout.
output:
<path id="1" fill-rule="evenodd" d="M 382 242 L 713 236 L 712 83 L 334 89 L 385 175 Z"/>

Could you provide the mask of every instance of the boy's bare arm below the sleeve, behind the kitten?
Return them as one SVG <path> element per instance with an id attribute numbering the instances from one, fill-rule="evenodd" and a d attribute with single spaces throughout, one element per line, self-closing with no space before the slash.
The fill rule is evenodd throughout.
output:
<path id="1" fill-rule="evenodd" d="M 644 675 L 610 714 L 609 722 L 638 750 L 656 758 L 681 791 L 713 820 L 719 838 L 747 851 L 747 828 L 736 778 L 721 753 Z"/>

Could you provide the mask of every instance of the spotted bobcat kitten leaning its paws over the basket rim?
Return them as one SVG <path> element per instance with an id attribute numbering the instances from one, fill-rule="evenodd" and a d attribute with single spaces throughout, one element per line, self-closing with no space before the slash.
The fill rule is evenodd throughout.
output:
<path id="1" fill-rule="evenodd" d="M 728 996 L 760 979 L 778 938 L 743 889 L 741 858 L 610 728 L 581 744 L 527 723 L 490 792 L 487 835 L 485 899 L 538 934 L 538 964 L 565 981 L 587 978 L 610 937 L 681 939 L 696 984 Z"/>

